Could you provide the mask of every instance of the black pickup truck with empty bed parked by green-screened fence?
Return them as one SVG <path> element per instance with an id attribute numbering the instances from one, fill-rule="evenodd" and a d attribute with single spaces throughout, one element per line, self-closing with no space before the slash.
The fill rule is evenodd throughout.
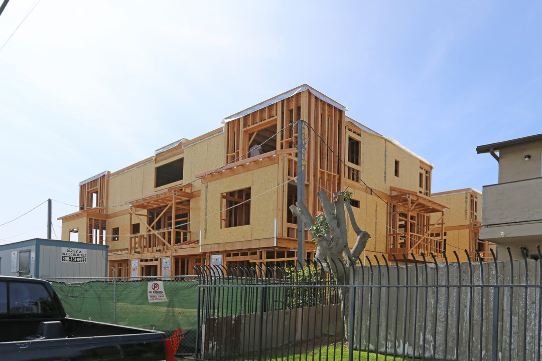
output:
<path id="1" fill-rule="evenodd" d="M 69 318 L 47 281 L 0 276 L 0 359 L 172 361 L 175 357 L 163 332 Z"/>

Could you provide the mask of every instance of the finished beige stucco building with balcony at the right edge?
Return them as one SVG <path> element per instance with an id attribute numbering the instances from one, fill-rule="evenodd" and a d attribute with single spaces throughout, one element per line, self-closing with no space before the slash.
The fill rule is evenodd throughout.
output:
<path id="1" fill-rule="evenodd" d="M 499 183 L 483 186 L 483 213 L 480 238 L 495 242 L 500 258 L 508 257 L 510 246 L 515 259 L 520 247 L 538 258 L 542 245 L 542 134 L 476 147 L 499 163 Z M 498 155 L 496 153 L 499 153 Z"/>

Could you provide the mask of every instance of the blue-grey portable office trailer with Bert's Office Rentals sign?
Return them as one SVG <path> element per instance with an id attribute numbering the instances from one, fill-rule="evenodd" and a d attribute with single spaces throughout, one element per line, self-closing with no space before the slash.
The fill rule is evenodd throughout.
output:
<path id="1" fill-rule="evenodd" d="M 29 239 L 0 246 L 0 274 L 53 277 L 105 277 L 107 246 L 52 239 Z"/>

